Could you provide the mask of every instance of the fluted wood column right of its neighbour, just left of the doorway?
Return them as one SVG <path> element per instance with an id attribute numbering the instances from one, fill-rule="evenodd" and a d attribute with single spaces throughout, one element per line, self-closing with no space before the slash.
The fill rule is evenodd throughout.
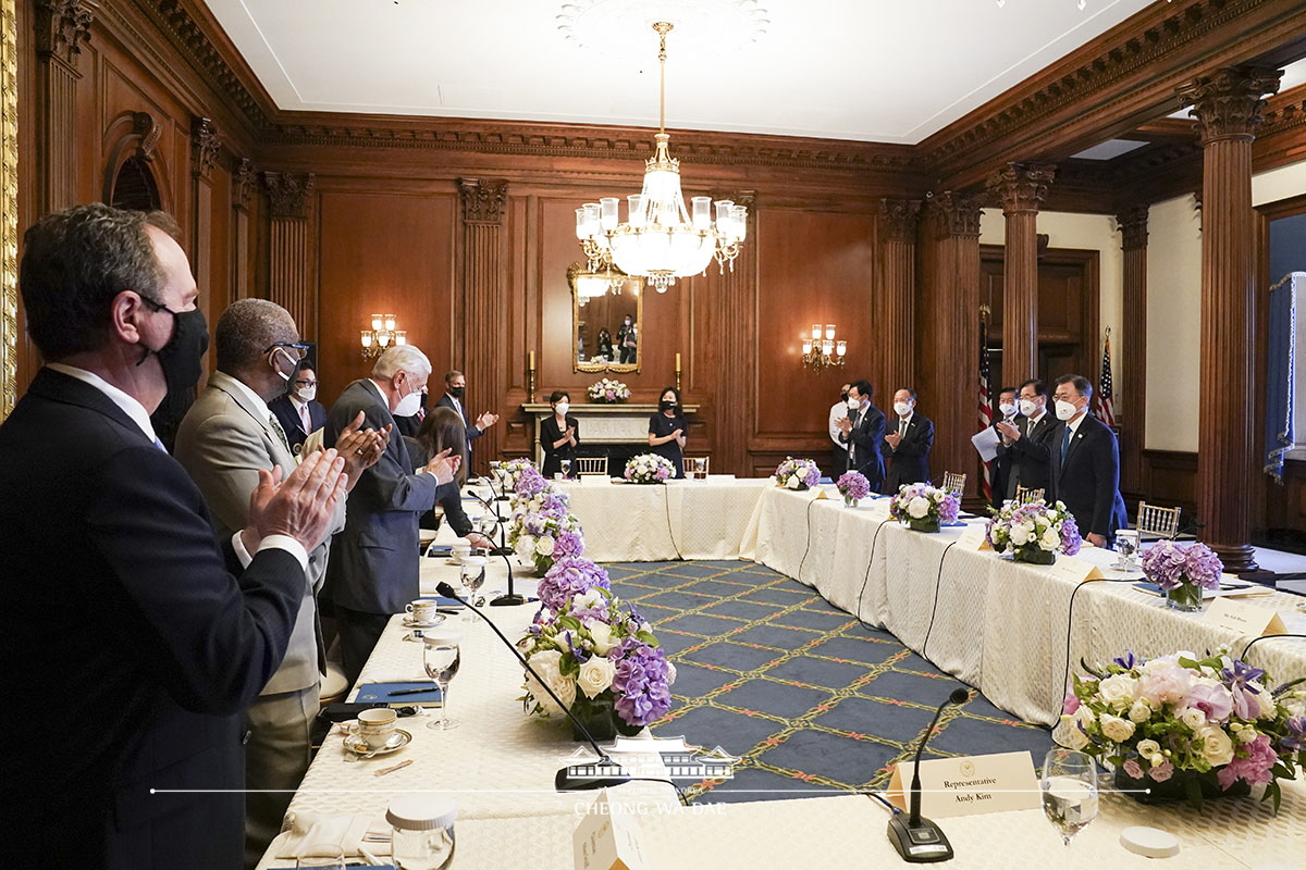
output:
<path id="1" fill-rule="evenodd" d="M 978 468 L 969 436 L 978 428 L 980 407 L 980 209 L 982 197 L 943 193 L 930 201 L 934 218 L 935 273 L 930 342 L 938 373 L 931 393 L 936 438 L 930 455 L 935 479 L 944 471 L 965 472 L 965 494 L 980 492 Z M 884 397 L 887 400 L 887 397 Z"/>

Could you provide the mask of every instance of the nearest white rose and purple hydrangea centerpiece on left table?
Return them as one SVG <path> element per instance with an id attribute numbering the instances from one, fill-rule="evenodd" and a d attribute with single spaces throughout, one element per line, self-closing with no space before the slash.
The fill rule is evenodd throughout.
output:
<path id="1" fill-rule="evenodd" d="M 675 668 L 649 623 L 601 586 L 572 595 L 558 610 L 542 608 L 518 646 L 596 740 L 633 736 L 671 707 Z M 530 672 L 525 687 L 528 712 L 563 715 Z"/>

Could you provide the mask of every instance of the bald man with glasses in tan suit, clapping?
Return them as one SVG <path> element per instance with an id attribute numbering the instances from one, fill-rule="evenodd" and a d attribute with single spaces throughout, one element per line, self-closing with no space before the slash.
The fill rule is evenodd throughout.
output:
<path id="1" fill-rule="evenodd" d="M 286 436 L 266 400 L 285 390 L 285 377 L 303 356 L 290 314 L 269 301 L 244 299 L 223 312 L 215 329 L 218 370 L 178 429 L 176 459 L 208 502 L 219 539 L 244 528 L 249 490 L 259 471 L 295 470 Z M 359 430 L 355 420 L 340 438 L 353 488 L 385 449 L 383 433 Z M 308 732 L 317 715 L 321 650 L 315 595 L 326 573 L 330 536 L 345 526 L 341 500 L 332 526 L 308 553 L 304 596 L 281 668 L 246 713 L 246 865 L 263 857 L 290 797 L 308 770 Z"/>

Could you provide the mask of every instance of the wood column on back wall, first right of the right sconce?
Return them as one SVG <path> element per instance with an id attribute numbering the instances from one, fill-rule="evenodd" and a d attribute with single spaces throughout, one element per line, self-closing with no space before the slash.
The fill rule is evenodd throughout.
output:
<path id="1" fill-rule="evenodd" d="M 880 200 L 883 286 L 876 338 L 884 393 L 916 383 L 916 224 L 919 200 Z"/>

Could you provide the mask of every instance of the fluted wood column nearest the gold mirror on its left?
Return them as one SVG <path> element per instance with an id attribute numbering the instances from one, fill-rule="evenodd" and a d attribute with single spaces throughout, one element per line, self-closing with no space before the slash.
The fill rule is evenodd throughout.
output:
<path id="1" fill-rule="evenodd" d="M 465 399 L 468 417 L 475 420 L 485 411 L 505 416 L 502 407 L 505 395 L 503 385 L 503 333 L 504 299 L 503 280 L 503 218 L 508 203 L 505 180 L 482 181 L 458 179 L 462 198 L 462 342 L 453 348 L 453 367 L 468 378 Z M 504 423 L 487 429 L 471 443 L 477 473 L 488 468 L 491 459 L 499 458 L 499 442 Z"/>

